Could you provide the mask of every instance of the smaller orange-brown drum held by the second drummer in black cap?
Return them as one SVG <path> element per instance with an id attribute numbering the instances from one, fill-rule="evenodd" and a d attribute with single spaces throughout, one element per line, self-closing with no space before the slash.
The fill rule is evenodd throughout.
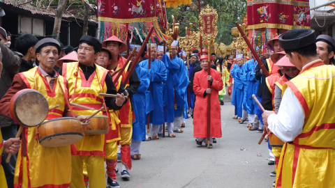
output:
<path id="1" fill-rule="evenodd" d="M 84 115 L 89 117 L 89 115 Z M 96 115 L 90 119 L 89 125 L 82 126 L 85 135 L 107 134 L 110 129 L 110 122 L 107 116 Z"/>

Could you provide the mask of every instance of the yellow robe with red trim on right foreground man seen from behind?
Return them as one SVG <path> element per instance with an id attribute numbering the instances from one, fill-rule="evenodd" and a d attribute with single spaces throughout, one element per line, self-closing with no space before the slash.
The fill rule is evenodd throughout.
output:
<path id="1" fill-rule="evenodd" d="M 335 187 L 335 67 L 317 61 L 283 85 L 304 109 L 302 133 L 285 143 L 276 187 Z"/>

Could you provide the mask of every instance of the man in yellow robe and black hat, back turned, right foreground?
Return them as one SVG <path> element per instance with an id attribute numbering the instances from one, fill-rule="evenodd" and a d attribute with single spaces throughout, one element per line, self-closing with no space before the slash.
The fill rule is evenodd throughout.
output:
<path id="1" fill-rule="evenodd" d="M 316 52 L 315 31 L 292 29 L 279 42 L 301 72 L 283 84 L 278 114 L 265 111 L 265 127 L 286 142 L 276 187 L 334 187 L 335 68 Z"/>

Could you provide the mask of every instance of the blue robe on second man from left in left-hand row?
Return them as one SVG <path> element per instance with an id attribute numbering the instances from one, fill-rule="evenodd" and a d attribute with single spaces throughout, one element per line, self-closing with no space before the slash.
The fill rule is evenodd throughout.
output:
<path id="1" fill-rule="evenodd" d="M 148 70 L 148 60 L 144 60 L 139 63 L 142 68 Z M 149 79 L 150 79 L 150 93 L 152 96 L 154 110 L 150 113 L 150 123 L 154 125 L 162 125 L 164 123 L 164 111 L 163 111 L 163 81 L 166 81 L 166 74 L 168 70 L 165 68 L 165 64 L 155 59 L 150 63 Z"/>

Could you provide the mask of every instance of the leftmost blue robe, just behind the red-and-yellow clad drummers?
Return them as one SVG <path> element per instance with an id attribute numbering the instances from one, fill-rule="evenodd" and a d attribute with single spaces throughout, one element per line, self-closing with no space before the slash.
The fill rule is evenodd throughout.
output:
<path id="1" fill-rule="evenodd" d="M 140 65 L 136 65 L 135 71 L 138 78 L 141 81 L 140 87 L 137 88 L 137 92 L 133 95 L 133 108 L 135 113 L 135 121 L 133 121 L 133 136 L 132 139 L 136 141 L 145 141 L 145 134 L 147 130 L 147 105 L 146 102 L 150 100 L 146 97 L 150 91 L 147 91 L 149 88 L 149 71 L 145 68 L 141 68 Z M 151 97 L 151 96 L 150 96 Z"/>

